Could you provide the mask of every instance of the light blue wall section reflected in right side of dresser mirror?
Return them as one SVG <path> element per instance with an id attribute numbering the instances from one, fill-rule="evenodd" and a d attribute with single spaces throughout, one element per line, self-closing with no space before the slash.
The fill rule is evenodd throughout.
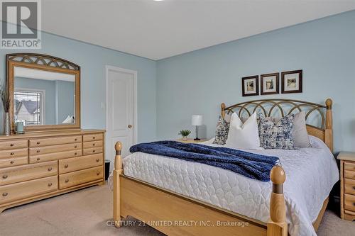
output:
<path id="1" fill-rule="evenodd" d="M 75 83 L 56 80 L 55 94 L 56 123 L 61 124 L 67 116 L 75 116 Z"/>

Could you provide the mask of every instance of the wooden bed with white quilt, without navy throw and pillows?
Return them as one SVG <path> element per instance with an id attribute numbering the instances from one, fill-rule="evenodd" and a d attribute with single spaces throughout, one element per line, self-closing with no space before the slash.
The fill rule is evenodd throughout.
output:
<path id="1" fill-rule="evenodd" d="M 222 116 L 231 112 L 250 116 L 258 110 L 270 116 L 276 109 L 285 116 L 307 110 L 306 118 L 317 113 L 320 122 L 319 127 L 307 125 L 312 147 L 248 150 L 280 157 L 282 167 L 271 171 L 272 183 L 142 152 L 121 158 L 121 143 L 117 142 L 116 227 L 131 215 L 166 235 L 316 235 L 329 192 L 339 179 L 332 156 L 332 101 L 327 99 L 323 106 L 295 100 L 258 100 L 229 107 L 222 103 L 221 108 Z"/>

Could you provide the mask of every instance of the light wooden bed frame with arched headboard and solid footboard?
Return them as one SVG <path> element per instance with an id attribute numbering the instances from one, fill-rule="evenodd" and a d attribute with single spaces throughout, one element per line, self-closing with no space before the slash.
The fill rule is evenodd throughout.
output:
<path id="1" fill-rule="evenodd" d="M 269 104 L 268 108 L 266 108 L 267 104 Z M 239 109 L 239 116 L 242 113 L 250 116 L 255 111 L 261 111 L 266 116 L 270 116 L 274 109 L 278 109 L 283 117 L 285 114 L 293 113 L 296 109 L 296 111 L 305 111 L 307 107 L 306 120 L 313 111 L 318 111 L 322 120 L 320 127 L 307 125 L 308 133 L 319 137 L 332 151 L 332 100 L 327 99 L 325 104 L 326 106 L 285 99 L 247 101 L 229 107 L 222 103 L 221 115 L 224 117 L 226 113 Z M 285 105 L 290 106 L 288 113 L 285 113 Z M 247 108 L 248 106 L 253 108 Z M 325 110 L 325 118 L 322 110 Z M 273 189 L 270 200 L 270 220 L 268 223 L 263 223 L 126 176 L 122 167 L 121 142 L 116 142 L 115 149 L 113 210 L 116 227 L 121 226 L 123 218 L 131 215 L 166 235 L 288 235 L 283 196 L 285 172 L 280 166 L 275 166 L 271 170 Z M 316 231 L 327 208 L 328 200 L 329 198 L 324 201 L 317 220 L 313 223 Z"/>

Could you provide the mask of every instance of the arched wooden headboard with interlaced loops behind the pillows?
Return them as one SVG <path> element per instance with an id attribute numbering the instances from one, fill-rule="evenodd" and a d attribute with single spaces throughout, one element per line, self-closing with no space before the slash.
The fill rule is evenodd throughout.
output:
<path id="1" fill-rule="evenodd" d="M 333 152 L 333 118 L 332 118 L 332 99 L 327 99 L 325 105 L 311 103 L 307 101 L 298 101 L 291 99 L 263 99 L 254 101 L 245 101 L 226 107 L 221 104 L 221 116 L 224 118 L 226 113 L 237 113 L 239 117 L 251 116 L 254 112 L 263 113 L 265 116 L 273 116 L 277 111 L 280 117 L 291 113 L 305 111 L 306 123 L 311 114 L 319 118 L 319 125 L 310 125 L 307 123 L 308 134 L 319 137 Z"/>

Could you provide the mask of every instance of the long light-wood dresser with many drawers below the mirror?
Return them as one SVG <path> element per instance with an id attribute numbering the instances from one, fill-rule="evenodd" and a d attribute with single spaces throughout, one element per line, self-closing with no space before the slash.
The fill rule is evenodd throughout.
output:
<path id="1" fill-rule="evenodd" d="M 0 213 L 104 184 L 104 130 L 0 136 Z"/>

